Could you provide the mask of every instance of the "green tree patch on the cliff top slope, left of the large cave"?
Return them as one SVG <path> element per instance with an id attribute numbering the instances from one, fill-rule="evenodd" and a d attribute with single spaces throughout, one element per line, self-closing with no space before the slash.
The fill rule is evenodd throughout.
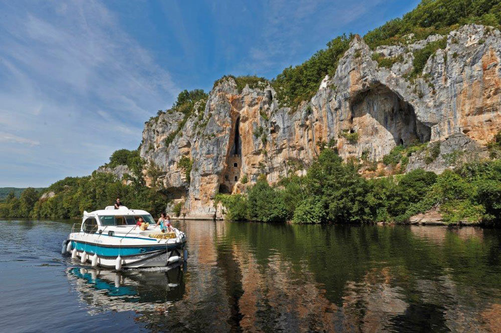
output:
<path id="1" fill-rule="evenodd" d="M 295 110 L 302 101 L 313 97 L 326 75 L 333 77 L 339 59 L 348 50 L 353 35 L 340 36 L 329 43 L 327 49 L 317 51 L 309 60 L 296 67 L 288 67 L 273 81 L 282 106 Z"/>

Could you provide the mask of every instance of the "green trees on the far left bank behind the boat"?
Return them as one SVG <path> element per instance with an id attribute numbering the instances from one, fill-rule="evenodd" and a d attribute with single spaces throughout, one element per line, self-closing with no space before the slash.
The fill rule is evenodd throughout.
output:
<path id="1" fill-rule="evenodd" d="M 158 187 L 145 186 L 144 161 L 137 151 L 126 149 L 113 153 L 108 166 L 128 165 L 131 175 L 125 175 L 128 185 L 115 175 L 94 171 L 92 176 L 67 177 L 49 186 L 44 192 L 54 192 L 53 197 L 41 198 L 34 188 L 27 188 L 18 199 L 11 193 L 0 202 L 1 217 L 76 218 L 84 210 L 92 211 L 112 205 L 117 197 L 129 207 L 139 207 L 153 215 L 163 211 L 166 195 Z"/>

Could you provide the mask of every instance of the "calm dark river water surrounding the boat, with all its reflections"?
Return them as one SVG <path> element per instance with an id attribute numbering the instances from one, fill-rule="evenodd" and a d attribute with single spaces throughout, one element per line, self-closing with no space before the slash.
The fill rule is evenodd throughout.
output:
<path id="1" fill-rule="evenodd" d="M 0 331 L 499 331 L 501 230 L 186 221 L 186 265 L 60 253 L 74 221 L 0 221 Z"/>

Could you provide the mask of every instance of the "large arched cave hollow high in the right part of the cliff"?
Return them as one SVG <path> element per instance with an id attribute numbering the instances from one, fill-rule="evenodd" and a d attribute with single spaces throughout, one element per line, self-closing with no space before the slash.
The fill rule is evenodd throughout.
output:
<path id="1" fill-rule="evenodd" d="M 430 140 L 431 128 L 420 122 L 414 107 L 383 84 L 360 92 L 350 100 L 352 128 L 359 144 L 375 157 L 387 154 L 396 145 Z"/>

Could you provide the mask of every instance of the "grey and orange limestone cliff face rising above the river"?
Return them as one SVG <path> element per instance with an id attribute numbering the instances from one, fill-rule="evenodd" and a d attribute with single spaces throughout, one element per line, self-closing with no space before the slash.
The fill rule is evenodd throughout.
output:
<path id="1" fill-rule="evenodd" d="M 271 86 L 238 91 L 233 79 L 221 80 L 182 128 L 180 113 L 164 113 L 146 123 L 140 154 L 163 172 L 174 199 L 186 198 L 188 217 L 215 216 L 213 198 L 235 193 L 266 174 L 270 182 L 301 174 L 319 147 L 337 140 L 340 156 L 380 160 L 396 145 L 440 141 L 440 155 L 425 164 L 411 156 L 407 171 L 424 167 L 441 172 L 445 155 L 456 151 L 486 154 L 484 145 L 501 129 L 501 34 L 467 25 L 448 36 L 371 50 L 355 37 L 333 78 L 297 111 L 280 107 Z M 413 52 L 447 39 L 429 57 L 423 73 L 409 79 Z M 379 67 L 373 56 L 396 59 Z M 177 131 L 177 132 L 176 132 Z M 177 133 L 173 140 L 165 140 Z M 460 155 L 460 154 L 458 154 Z M 193 161 L 190 181 L 178 162 Z"/>

